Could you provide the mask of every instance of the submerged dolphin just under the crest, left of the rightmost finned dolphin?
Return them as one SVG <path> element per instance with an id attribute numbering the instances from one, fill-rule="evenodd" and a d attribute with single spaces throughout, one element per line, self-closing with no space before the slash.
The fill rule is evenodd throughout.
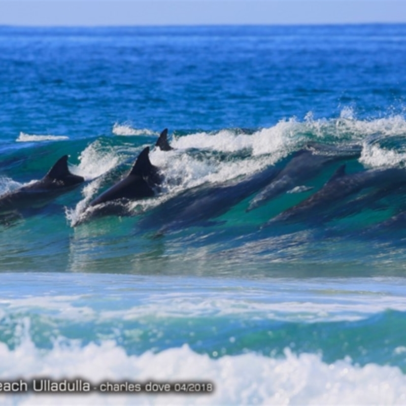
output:
<path id="1" fill-rule="evenodd" d="M 306 149 L 301 149 L 293 154 L 292 159 L 273 182 L 250 201 L 246 211 L 256 209 L 264 205 L 268 200 L 302 185 L 318 175 L 327 165 L 337 160 L 359 157 L 360 153 L 361 147 L 359 146 L 340 150 L 334 146 L 309 143 Z"/>

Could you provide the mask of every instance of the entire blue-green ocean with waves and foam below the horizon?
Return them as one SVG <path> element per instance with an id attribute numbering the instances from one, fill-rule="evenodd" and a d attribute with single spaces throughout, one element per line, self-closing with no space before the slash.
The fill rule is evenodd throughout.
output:
<path id="1" fill-rule="evenodd" d="M 0 213 L 0 382 L 92 384 L 1 404 L 404 404 L 405 51 L 406 25 L 0 27 L 0 203 L 65 154 L 85 179 Z M 147 146 L 155 196 L 89 209 Z"/>

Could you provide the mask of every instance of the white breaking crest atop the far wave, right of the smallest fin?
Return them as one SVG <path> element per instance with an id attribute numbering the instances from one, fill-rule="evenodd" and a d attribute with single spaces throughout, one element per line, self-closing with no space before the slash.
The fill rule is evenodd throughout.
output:
<path id="1" fill-rule="evenodd" d="M 275 163 L 308 142 L 334 145 L 358 143 L 365 149 L 361 162 L 374 167 L 397 161 L 393 156 L 388 156 L 384 162 L 382 157 L 376 162 L 374 157 L 367 159 L 371 155 L 368 148 L 374 146 L 376 151 L 380 144 L 387 144 L 393 139 L 404 142 L 405 136 L 406 120 L 403 116 L 359 120 L 351 109 L 345 108 L 339 118 L 333 119 L 314 119 L 310 112 L 304 121 L 292 117 L 258 130 L 222 129 L 186 133 L 174 136 L 172 145 L 182 150 L 196 148 L 228 153 L 248 149 L 253 156 L 270 155 L 268 163 Z M 392 148 L 399 148 L 399 145 L 392 145 Z"/>

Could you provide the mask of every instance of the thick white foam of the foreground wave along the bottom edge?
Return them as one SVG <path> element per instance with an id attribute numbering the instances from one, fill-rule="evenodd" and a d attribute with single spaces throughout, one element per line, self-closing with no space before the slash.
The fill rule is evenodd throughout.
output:
<path id="1" fill-rule="evenodd" d="M 233 337 L 230 337 L 232 340 Z M 235 339 L 234 339 L 235 340 Z M 207 394 L 0 394 L 4 405 L 35 404 L 404 404 L 406 376 L 397 367 L 369 363 L 354 366 L 351 359 L 331 364 L 320 355 L 293 354 L 273 358 L 255 353 L 210 358 L 187 345 L 154 354 L 127 355 L 113 342 L 55 343 L 39 350 L 29 340 L 10 350 L 0 344 L 0 380 L 30 381 L 80 377 L 94 385 L 102 382 L 211 382 Z M 220 357 L 219 357 L 220 356 Z"/>

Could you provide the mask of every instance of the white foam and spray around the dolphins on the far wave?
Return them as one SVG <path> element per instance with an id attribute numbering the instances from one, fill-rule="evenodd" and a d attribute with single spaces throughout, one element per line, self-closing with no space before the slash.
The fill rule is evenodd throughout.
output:
<path id="1" fill-rule="evenodd" d="M 123 210 L 129 214 L 139 214 L 199 185 L 222 184 L 238 177 L 250 176 L 268 165 L 280 164 L 283 159 L 314 142 L 334 146 L 337 151 L 359 146 L 361 153 L 358 162 L 364 168 L 402 167 L 406 158 L 405 131 L 406 121 L 401 116 L 358 120 L 351 109 L 343 109 L 336 119 L 315 120 L 309 113 L 303 122 L 291 118 L 281 120 L 273 127 L 258 130 L 222 129 L 174 133 L 171 140 L 174 150 L 167 152 L 155 148 L 150 153 L 151 162 L 165 176 L 161 193 L 156 198 L 130 202 Z M 128 157 L 130 151 L 133 153 L 133 162 L 136 153 L 140 151 L 140 147 L 119 145 L 116 143 L 110 146 L 109 151 L 102 152 L 103 148 L 96 142 L 82 153 L 81 175 L 96 180 L 83 190 L 84 199 L 77 207 L 67 210 L 67 219 L 72 226 L 92 214 L 92 209 L 84 213 L 87 203 L 106 185 L 97 178 L 121 165 L 125 161 L 124 156 Z M 297 184 L 290 189 L 300 191 L 296 194 L 302 195 L 313 187 Z"/>

